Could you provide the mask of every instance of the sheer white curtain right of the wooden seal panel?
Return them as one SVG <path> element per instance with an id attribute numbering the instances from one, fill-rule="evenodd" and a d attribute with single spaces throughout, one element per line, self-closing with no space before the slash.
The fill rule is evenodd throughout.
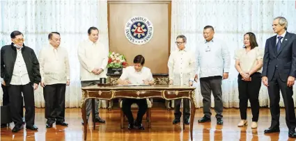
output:
<path id="1" fill-rule="evenodd" d="M 249 31 L 256 34 L 259 47 L 265 47 L 265 40 L 274 35 L 272 20 L 283 16 L 288 19 L 288 32 L 296 33 L 295 1 L 237 1 L 237 0 L 173 0 L 171 11 L 171 51 L 176 49 L 174 43 L 177 35 L 187 36 L 187 47 L 195 51 L 203 39 L 203 27 L 211 25 L 215 28 L 215 37 L 226 42 L 231 53 L 231 70 L 229 78 L 223 81 L 224 107 L 237 108 L 237 71 L 235 70 L 233 54 L 242 47 L 243 35 Z M 196 86 L 196 101 L 198 107 L 203 106 L 199 83 Z M 294 87 L 294 92 L 296 87 Z M 260 106 L 268 106 L 268 93 L 261 86 Z M 296 100 L 296 94 L 293 96 Z M 212 106 L 214 106 L 212 97 Z M 280 106 L 283 106 L 281 97 Z"/>

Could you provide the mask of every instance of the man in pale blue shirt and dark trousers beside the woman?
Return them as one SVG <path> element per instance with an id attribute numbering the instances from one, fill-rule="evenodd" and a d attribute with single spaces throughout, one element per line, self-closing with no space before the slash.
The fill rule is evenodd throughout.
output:
<path id="1" fill-rule="evenodd" d="M 222 78 L 228 78 L 230 67 L 229 51 L 224 42 L 214 38 L 214 28 L 205 26 L 203 28 L 203 38 L 205 41 L 196 49 L 196 76 L 198 78 L 198 67 L 200 69 L 201 95 L 203 96 L 203 114 L 198 123 L 211 121 L 211 93 L 215 99 L 215 112 L 217 124 L 223 124 L 222 112 Z"/>

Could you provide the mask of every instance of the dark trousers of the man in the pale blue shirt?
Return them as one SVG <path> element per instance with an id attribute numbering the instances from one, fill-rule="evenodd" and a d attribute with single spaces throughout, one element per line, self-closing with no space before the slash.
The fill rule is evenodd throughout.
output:
<path id="1" fill-rule="evenodd" d="M 208 118 L 212 115 L 210 110 L 212 93 L 215 101 L 215 117 L 222 118 L 222 76 L 203 77 L 200 78 L 199 81 L 201 82 L 201 95 L 203 96 L 203 114 Z"/>

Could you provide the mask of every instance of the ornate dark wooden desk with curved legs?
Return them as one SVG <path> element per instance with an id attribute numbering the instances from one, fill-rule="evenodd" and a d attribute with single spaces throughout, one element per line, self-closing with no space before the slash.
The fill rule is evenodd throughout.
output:
<path id="1" fill-rule="evenodd" d="M 158 97 L 166 100 L 173 99 L 190 99 L 191 101 L 191 115 L 190 116 L 190 136 L 192 139 L 192 130 L 194 124 L 194 115 L 196 109 L 196 101 L 194 94 L 194 87 L 185 85 L 150 85 L 150 86 L 98 86 L 93 85 L 81 88 L 81 110 L 82 119 L 84 120 L 84 140 L 87 135 L 87 121 L 86 121 L 86 103 L 87 99 L 104 99 L 111 100 L 115 98 L 129 98 L 129 99 L 147 99 Z M 184 108 L 183 108 L 184 110 Z M 184 114 L 183 114 L 184 119 Z M 184 121 L 184 120 L 183 120 Z M 95 129 L 95 123 L 93 124 Z M 185 125 L 183 122 L 183 129 Z"/>

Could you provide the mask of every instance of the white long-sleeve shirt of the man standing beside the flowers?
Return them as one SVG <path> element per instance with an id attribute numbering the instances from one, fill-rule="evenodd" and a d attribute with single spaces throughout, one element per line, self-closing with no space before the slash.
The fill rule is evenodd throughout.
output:
<path id="1" fill-rule="evenodd" d="M 107 78 L 108 50 L 100 42 L 85 40 L 78 47 L 78 58 L 80 62 L 80 80 L 95 81 Z M 101 74 L 93 74 L 93 69 L 104 69 Z"/>

